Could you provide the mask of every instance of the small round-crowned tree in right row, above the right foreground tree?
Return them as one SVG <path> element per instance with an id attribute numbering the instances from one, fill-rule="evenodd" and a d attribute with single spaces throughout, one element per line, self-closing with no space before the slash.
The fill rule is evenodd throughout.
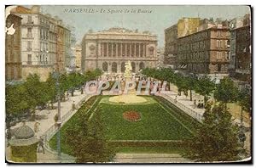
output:
<path id="1" fill-rule="evenodd" d="M 230 78 L 225 77 L 217 85 L 214 92 L 214 98 L 219 102 L 224 103 L 225 108 L 227 108 L 228 103 L 236 102 L 238 98 L 238 89 Z"/>

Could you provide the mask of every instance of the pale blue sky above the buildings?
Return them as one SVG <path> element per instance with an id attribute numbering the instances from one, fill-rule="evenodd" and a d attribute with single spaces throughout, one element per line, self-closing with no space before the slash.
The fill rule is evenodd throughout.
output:
<path id="1" fill-rule="evenodd" d="M 158 36 L 159 47 L 164 46 L 164 30 L 177 23 L 182 17 L 222 18 L 230 20 L 250 13 L 247 6 L 41 6 L 44 14 L 57 15 L 65 23 L 75 27 L 77 42 L 81 42 L 84 34 L 92 29 L 102 31 L 110 27 L 125 27 L 138 31 L 151 31 Z M 65 13 L 65 8 L 94 8 L 106 11 L 109 9 L 147 9 L 151 14 L 88 14 L 88 13 Z"/>

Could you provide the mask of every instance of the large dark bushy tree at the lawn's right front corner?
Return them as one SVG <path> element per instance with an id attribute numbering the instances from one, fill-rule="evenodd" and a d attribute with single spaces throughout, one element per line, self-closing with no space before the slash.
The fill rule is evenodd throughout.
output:
<path id="1" fill-rule="evenodd" d="M 207 104 L 204 120 L 195 137 L 187 139 L 188 149 L 183 156 L 195 161 L 235 161 L 239 160 L 241 146 L 238 126 L 234 126 L 230 112 L 219 104 L 211 109 Z"/>

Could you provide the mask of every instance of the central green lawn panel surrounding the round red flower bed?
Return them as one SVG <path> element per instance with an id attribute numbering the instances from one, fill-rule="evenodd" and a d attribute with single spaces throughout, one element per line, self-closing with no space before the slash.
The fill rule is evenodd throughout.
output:
<path id="1" fill-rule="evenodd" d="M 123 113 L 131 110 L 137 111 L 141 120 L 125 120 Z M 101 103 L 97 112 L 102 115 L 108 140 L 182 140 L 192 135 L 172 112 L 156 101 L 152 104 Z"/>

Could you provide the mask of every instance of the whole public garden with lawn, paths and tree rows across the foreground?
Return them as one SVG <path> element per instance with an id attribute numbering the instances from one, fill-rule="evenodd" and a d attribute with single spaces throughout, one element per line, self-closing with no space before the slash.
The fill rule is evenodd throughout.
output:
<path id="1" fill-rule="evenodd" d="M 52 162 L 125 162 L 125 154 L 146 154 L 143 157 L 148 161 L 154 160 L 149 159 L 154 154 L 162 156 L 164 162 L 181 158 L 185 159 L 182 162 L 229 161 L 242 160 L 250 155 L 248 116 L 251 97 L 248 92 L 238 91 L 230 79 L 224 78 L 216 84 L 207 77 L 181 76 L 171 69 L 144 69 L 138 80 L 167 81 L 168 92 L 148 96 L 109 96 L 104 92 L 102 95 L 87 95 L 82 87 L 84 83 L 100 76 L 102 74 L 97 71 L 62 75 L 62 78 L 59 76 L 59 88 L 43 87 L 47 89 L 40 92 L 35 89 L 25 98 L 21 96 L 27 96 L 30 87 L 42 88 L 49 83 L 49 86 L 55 86 L 56 79 L 50 77 L 42 84 L 31 76 L 25 83 L 7 87 L 7 115 L 11 116 L 7 123 L 8 132 L 14 132 L 15 127 L 20 126 L 20 111 L 24 111 L 22 118 L 27 120 L 28 126 L 32 127 L 35 120 L 41 123 L 35 136 L 44 137 L 46 153 L 38 153 L 33 162 L 51 159 Z M 42 100 L 42 92 L 44 96 L 48 95 L 46 92 L 51 96 Z M 33 104 L 28 105 L 26 98 L 32 98 Z M 61 120 L 55 117 L 58 98 L 62 104 Z M 197 106 L 199 100 L 201 107 Z M 231 115 L 230 104 L 241 107 L 239 117 Z M 38 119 L 37 114 L 44 111 L 50 112 L 44 114 L 44 119 Z M 12 126 L 14 119 L 18 121 Z M 15 137 L 15 133 L 7 135 Z M 172 154 L 176 155 L 173 157 Z"/>

